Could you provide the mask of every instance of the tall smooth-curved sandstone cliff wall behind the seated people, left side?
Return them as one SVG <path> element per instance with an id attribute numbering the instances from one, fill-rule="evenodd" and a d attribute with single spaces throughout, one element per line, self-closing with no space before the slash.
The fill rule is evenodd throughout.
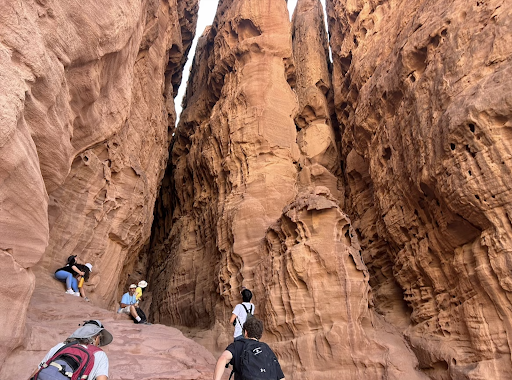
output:
<path id="1" fill-rule="evenodd" d="M 78 254 L 94 266 L 90 297 L 118 299 L 125 258 L 150 235 L 197 3 L 2 3 L 2 360 L 41 258 L 53 273 Z"/>

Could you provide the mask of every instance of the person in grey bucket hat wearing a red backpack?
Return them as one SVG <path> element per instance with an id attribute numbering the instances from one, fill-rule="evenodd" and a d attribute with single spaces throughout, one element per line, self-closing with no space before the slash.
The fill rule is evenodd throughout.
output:
<path id="1" fill-rule="evenodd" d="M 48 351 L 30 379 L 107 380 L 108 358 L 100 347 L 112 340 L 112 334 L 100 321 L 85 321 L 68 339 Z"/>

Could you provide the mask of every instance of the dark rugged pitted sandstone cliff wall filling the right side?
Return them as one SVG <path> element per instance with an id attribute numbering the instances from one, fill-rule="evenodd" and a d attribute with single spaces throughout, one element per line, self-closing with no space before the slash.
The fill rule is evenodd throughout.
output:
<path id="1" fill-rule="evenodd" d="M 327 4 L 376 308 L 431 378 L 510 378 L 511 4 Z"/>

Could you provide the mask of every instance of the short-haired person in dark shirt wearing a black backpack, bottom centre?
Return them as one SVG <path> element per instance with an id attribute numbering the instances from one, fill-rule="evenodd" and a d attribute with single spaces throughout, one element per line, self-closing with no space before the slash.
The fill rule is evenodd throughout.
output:
<path id="1" fill-rule="evenodd" d="M 284 379 L 276 355 L 266 343 L 259 341 L 262 335 L 263 322 L 249 318 L 243 326 L 243 338 L 231 343 L 217 360 L 213 380 L 221 379 L 228 363 L 233 366 L 231 374 L 235 374 L 235 380 Z"/>

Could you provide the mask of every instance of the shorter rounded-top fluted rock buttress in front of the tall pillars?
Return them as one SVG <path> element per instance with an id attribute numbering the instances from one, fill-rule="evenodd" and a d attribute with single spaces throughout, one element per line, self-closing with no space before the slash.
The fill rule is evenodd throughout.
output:
<path id="1" fill-rule="evenodd" d="M 426 379 L 400 335 L 369 309 L 369 275 L 327 188 L 302 193 L 265 236 L 255 293 L 293 379 Z"/>

